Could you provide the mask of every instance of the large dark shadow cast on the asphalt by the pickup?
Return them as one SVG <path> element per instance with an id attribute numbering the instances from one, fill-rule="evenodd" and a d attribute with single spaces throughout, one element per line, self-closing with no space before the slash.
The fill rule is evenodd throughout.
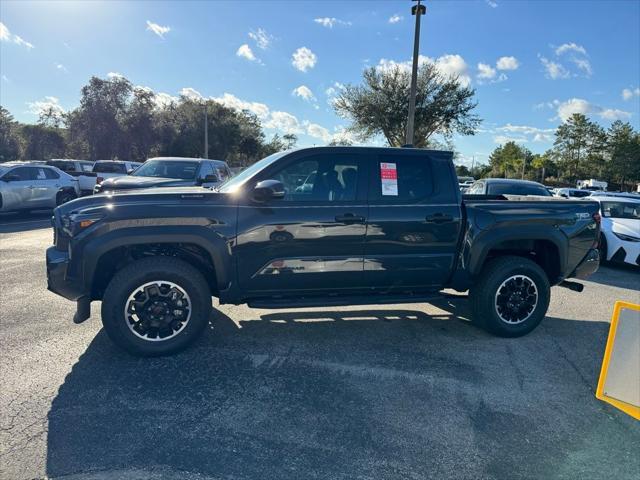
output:
<path id="1" fill-rule="evenodd" d="M 216 312 L 193 348 L 154 359 L 101 331 L 53 400 L 46 473 L 552 478 L 570 449 L 597 477 L 635 458 L 637 426 L 593 396 L 606 323 L 547 318 L 509 340 L 455 298 L 437 306 Z"/>

